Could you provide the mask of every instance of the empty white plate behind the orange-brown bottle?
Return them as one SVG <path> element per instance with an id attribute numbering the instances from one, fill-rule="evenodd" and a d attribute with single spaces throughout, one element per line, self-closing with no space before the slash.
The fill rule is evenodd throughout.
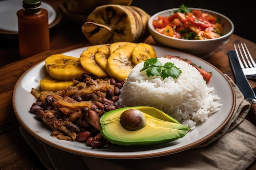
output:
<path id="1" fill-rule="evenodd" d="M 48 11 L 49 25 L 56 19 L 56 11 L 52 6 L 45 2 L 42 8 Z M 22 9 L 22 0 L 3 0 L 0 1 L 0 32 L 18 33 L 18 19 L 16 12 Z"/>

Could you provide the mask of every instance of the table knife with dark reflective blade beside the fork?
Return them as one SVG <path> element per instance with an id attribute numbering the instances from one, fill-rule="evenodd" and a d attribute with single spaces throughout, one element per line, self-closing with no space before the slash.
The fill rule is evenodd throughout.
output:
<path id="1" fill-rule="evenodd" d="M 236 86 L 238 86 L 241 93 L 243 93 L 245 100 L 247 100 L 251 104 L 251 108 L 249 112 L 252 113 L 254 121 L 256 121 L 256 96 L 254 91 L 252 90 L 251 85 L 248 82 L 247 77 L 244 75 L 242 68 L 240 67 L 238 56 L 236 55 L 236 51 L 230 50 L 228 52 L 229 62 L 231 68 L 233 70 Z"/>

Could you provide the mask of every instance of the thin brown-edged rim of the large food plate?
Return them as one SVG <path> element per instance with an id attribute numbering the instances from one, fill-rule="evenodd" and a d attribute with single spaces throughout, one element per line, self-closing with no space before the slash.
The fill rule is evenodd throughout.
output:
<path id="1" fill-rule="evenodd" d="M 69 53 L 69 52 L 72 52 L 72 51 L 75 51 L 75 50 L 79 50 L 79 49 L 82 49 L 82 48 L 87 48 L 88 46 L 85 46 L 85 47 L 81 47 L 81 48 L 78 48 L 78 49 L 73 49 L 73 50 L 70 50 L 70 51 L 66 51 L 66 52 L 63 52 L 63 53 Z M 161 49 L 166 49 L 166 50 L 169 50 L 169 51 L 176 51 L 176 52 L 180 52 L 180 53 L 184 53 L 184 54 L 188 54 L 188 55 L 191 55 L 189 53 L 185 53 L 185 52 L 182 52 L 182 51 L 177 51 L 177 50 L 174 50 L 174 49 L 169 49 L 169 48 L 166 48 L 166 47 L 162 47 L 162 46 L 156 46 L 156 45 L 153 45 L 153 47 L 157 47 L 157 48 L 161 48 Z M 191 55 L 191 57 L 196 57 L 194 55 Z M 22 80 L 22 78 L 29 72 L 31 71 L 31 69 L 37 67 L 38 65 L 40 64 L 43 64 L 45 62 L 45 60 L 43 60 L 42 62 L 39 62 L 38 64 L 32 66 L 31 68 L 29 68 L 27 71 L 25 71 L 25 73 L 23 73 L 20 78 L 18 79 L 18 81 L 16 82 L 14 88 L 13 88 L 13 95 L 12 95 L 12 105 L 13 105 L 13 110 L 14 110 L 14 113 L 16 115 L 16 118 L 18 119 L 18 121 L 20 122 L 20 124 L 32 135 L 34 136 L 36 139 L 42 141 L 43 143 L 45 144 L 48 144 L 50 146 L 53 146 L 54 148 L 58 148 L 60 150 L 63 150 L 63 151 L 66 151 L 66 152 L 70 152 L 70 153 L 74 153 L 76 155 L 82 155 L 82 156 L 89 156 L 89 157 L 97 157 L 97 158 L 107 158 L 107 159 L 141 159 L 141 158 L 151 158 L 151 157 L 161 157 L 161 156 L 165 156 L 165 155 L 172 155 L 172 154 L 175 154 L 177 152 L 182 152 L 182 151 L 185 151 L 185 150 L 188 150 L 190 148 L 193 148 L 195 146 L 198 146 L 202 143 L 204 143 L 205 141 L 211 139 L 213 136 L 215 136 L 218 132 L 220 132 L 220 130 L 222 130 L 226 125 L 227 123 L 229 122 L 229 120 L 231 119 L 232 115 L 234 114 L 234 110 L 235 110 L 235 106 L 236 106 L 236 95 L 235 95 L 235 92 L 234 92 L 234 88 L 233 86 L 231 85 L 231 82 L 229 81 L 229 79 L 227 79 L 227 77 L 218 69 L 216 68 L 215 66 L 213 66 L 212 64 L 210 64 L 209 62 L 199 58 L 199 57 L 196 57 L 197 60 L 202 60 L 203 62 L 205 62 L 206 64 L 208 64 L 209 66 L 213 67 L 216 71 L 218 71 L 220 73 L 220 75 L 222 75 L 222 77 L 224 77 L 227 85 L 229 86 L 229 88 L 231 89 L 231 92 L 232 92 L 232 106 L 231 106 L 231 110 L 230 110 L 230 113 L 229 115 L 226 117 L 226 119 L 223 121 L 223 123 L 218 127 L 216 128 L 214 131 L 212 131 L 209 135 L 203 137 L 202 139 L 199 139 L 198 141 L 195 141 L 191 144 L 188 144 L 186 146 L 182 146 L 180 148 L 174 148 L 172 150 L 164 150 L 164 151 L 161 151 L 161 152 L 154 152 L 154 153 L 146 153 L 146 154 L 141 154 L 141 155 L 105 155 L 105 154 L 98 154 L 98 153 L 92 153 L 92 152 L 83 152 L 83 151 L 79 151 L 79 150 L 75 150 L 75 149 L 71 149 L 71 148 L 66 148 L 66 147 L 63 147 L 63 146 L 60 146 L 58 144 L 55 144 L 51 141 L 48 141 L 47 139 L 44 139 L 43 137 L 40 137 L 38 134 L 36 134 L 33 130 L 31 130 L 26 124 L 25 122 L 22 121 L 22 119 L 20 118 L 19 116 L 19 113 L 16 109 L 16 91 L 17 91 L 17 88 L 18 86 L 20 85 L 20 81 Z M 50 132 L 50 130 L 49 130 Z M 70 141 L 68 141 L 70 142 Z"/>

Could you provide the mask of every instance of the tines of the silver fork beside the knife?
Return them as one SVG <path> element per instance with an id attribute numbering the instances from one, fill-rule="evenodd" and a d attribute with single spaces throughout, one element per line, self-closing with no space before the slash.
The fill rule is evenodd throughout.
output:
<path id="1" fill-rule="evenodd" d="M 236 44 L 234 44 L 236 54 L 238 56 L 238 60 L 240 63 L 241 68 L 252 68 L 256 67 L 256 64 L 252 58 L 252 55 L 250 54 L 249 50 L 247 49 L 247 46 L 245 43 L 241 43 L 242 50 L 240 48 L 240 45 L 237 44 L 238 49 L 236 48 Z M 238 53 L 239 51 L 239 53 Z"/>

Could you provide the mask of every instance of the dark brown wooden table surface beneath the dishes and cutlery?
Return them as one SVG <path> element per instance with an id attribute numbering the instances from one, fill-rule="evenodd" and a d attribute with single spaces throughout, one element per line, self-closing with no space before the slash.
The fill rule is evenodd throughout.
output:
<path id="1" fill-rule="evenodd" d="M 56 3 L 56 1 L 54 2 Z M 55 3 L 52 3 L 52 5 L 56 5 Z M 43 61 L 47 56 L 90 45 L 81 33 L 80 26 L 73 24 L 63 14 L 61 21 L 50 30 L 50 39 L 51 51 L 20 60 L 17 40 L 0 38 L 0 169 L 46 169 L 20 134 L 20 123 L 16 119 L 12 108 L 13 87 L 25 71 Z M 151 37 L 145 42 L 155 44 Z M 234 43 L 241 42 L 247 44 L 249 51 L 256 59 L 256 44 L 237 35 L 232 35 L 227 44 L 218 49 L 206 61 L 234 80 L 227 52 L 234 49 Z M 249 83 L 256 90 L 256 81 L 249 80 Z M 247 117 L 247 119 L 253 122 L 250 117 Z M 248 170 L 255 169 L 256 163 L 254 162 Z"/>

